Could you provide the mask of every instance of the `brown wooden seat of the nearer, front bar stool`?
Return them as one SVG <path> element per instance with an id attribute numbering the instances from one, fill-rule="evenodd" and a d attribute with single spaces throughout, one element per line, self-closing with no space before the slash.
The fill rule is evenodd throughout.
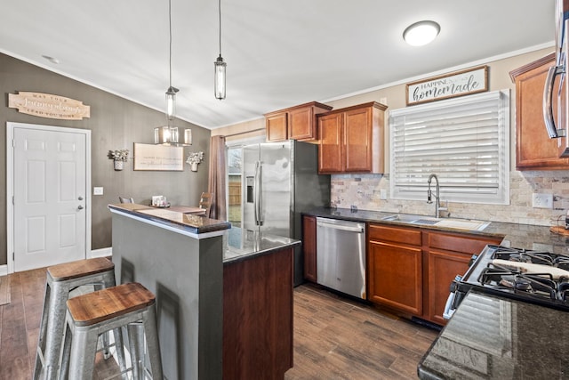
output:
<path id="1" fill-rule="evenodd" d="M 155 303 L 155 295 L 133 282 L 88 293 L 68 300 L 68 311 L 76 326 L 92 326 L 102 320 L 144 309 Z"/>

